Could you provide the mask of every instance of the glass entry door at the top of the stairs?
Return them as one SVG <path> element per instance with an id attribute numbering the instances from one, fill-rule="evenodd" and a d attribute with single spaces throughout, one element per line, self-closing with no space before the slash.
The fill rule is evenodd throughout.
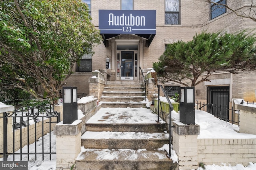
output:
<path id="1" fill-rule="evenodd" d="M 134 80 L 134 51 L 121 51 L 121 80 Z"/>

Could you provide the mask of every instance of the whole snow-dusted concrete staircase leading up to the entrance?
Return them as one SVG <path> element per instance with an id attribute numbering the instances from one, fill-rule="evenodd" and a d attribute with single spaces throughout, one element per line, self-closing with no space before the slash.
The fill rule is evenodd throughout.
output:
<path id="1" fill-rule="evenodd" d="M 178 170 L 163 149 L 166 123 L 142 108 L 142 84 L 111 83 L 103 94 L 102 108 L 86 122 L 76 170 Z"/>

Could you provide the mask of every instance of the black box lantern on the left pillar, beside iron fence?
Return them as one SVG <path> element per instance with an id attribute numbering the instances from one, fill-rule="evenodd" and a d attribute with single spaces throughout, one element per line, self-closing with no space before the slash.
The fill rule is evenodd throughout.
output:
<path id="1" fill-rule="evenodd" d="M 77 120 L 77 87 L 63 87 L 63 123 Z"/>

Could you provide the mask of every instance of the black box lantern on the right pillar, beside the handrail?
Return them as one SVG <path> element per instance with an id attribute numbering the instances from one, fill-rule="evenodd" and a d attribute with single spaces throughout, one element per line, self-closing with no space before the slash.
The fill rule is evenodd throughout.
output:
<path id="1" fill-rule="evenodd" d="M 195 124 L 195 87 L 180 88 L 180 122 Z"/>

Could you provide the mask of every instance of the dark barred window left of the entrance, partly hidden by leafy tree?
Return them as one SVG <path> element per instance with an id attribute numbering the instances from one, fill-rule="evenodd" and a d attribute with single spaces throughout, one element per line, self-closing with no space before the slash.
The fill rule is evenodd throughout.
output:
<path id="1" fill-rule="evenodd" d="M 92 55 L 85 54 L 77 64 L 77 72 L 92 72 Z"/>

